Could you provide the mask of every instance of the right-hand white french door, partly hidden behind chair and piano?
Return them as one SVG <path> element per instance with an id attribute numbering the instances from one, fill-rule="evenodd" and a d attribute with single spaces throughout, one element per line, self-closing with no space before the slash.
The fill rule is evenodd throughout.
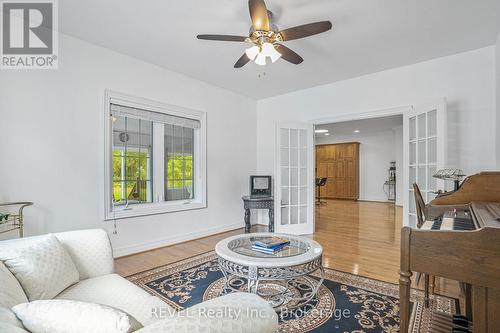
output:
<path id="1" fill-rule="evenodd" d="M 443 189 L 442 181 L 432 177 L 446 164 L 446 100 L 414 106 L 403 118 L 404 144 L 404 225 L 417 225 L 416 183 L 425 203 Z"/>

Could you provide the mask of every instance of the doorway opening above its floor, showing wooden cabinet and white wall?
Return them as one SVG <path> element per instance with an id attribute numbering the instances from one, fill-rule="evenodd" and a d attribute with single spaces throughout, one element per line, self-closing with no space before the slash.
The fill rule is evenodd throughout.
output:
<path id="1" fill-rule="evenodd" d="M 315 126 L 317 208 L 325 200 L 403 205 L 403 116 Z"/>

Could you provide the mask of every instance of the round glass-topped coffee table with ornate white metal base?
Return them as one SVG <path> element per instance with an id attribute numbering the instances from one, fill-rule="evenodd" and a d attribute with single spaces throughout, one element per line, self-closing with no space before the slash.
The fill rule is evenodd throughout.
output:
<path id="1" fill-rule="evenodd" d="M 253 241 L 270 237 L 285 238 L 290 244 L 275 254 L 252 250 Z M 217 243 L 215 252 L 226 292 L 258 294 L 277 311 L 307 304 L 324 280 L 323 248 L 309 238 L 275 233 L 237 235 Z M 319 278 L 311 277 L 316 271 Z"/>

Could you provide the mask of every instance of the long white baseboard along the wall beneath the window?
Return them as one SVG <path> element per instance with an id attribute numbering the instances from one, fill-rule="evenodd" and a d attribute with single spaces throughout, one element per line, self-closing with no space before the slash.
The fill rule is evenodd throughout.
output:
<path id="1" fill-rule="evenodd" d="M 204 230 L 200 230 L 200 231 L 190 232 L 190 233 L 183 234 L 183 235 L 176 235 L 173 237 L 161 238 L 161 239 L 157 239 L 157 240 L 154 240 L 151 242 L 113 248 L 113 257 L 115 257 L 115 258 L 123 257 L 123 256 L 134 254 L 134 253 L 149 251 L 149 250 L 157 249 L 159 247 L 169 246 L 169 245 L 193 240 L 196 238 L 201 238 L 201 237 L 206 237 L 206 236 L 218 234 L 221 232 L 240 229 L 243 227 L 244 227 L 244 225 L 241 222 L 238 222 L 238 223 L 229 224 L 229 225 L 225 225 L 225 226 L 213 227 L 213 228 L 204 229 Z"/>

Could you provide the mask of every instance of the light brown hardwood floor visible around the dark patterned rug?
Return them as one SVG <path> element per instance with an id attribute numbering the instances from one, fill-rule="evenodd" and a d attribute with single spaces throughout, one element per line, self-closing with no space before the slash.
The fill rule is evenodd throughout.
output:
<path id="1" fill-rule="evenodd" d="M 402 208 L 390 203 L 325 200 L 316 206 L 316 232 L 309 237 L 323 246 L 325 267 L 391 283 L 399 279 Z M 243 225 L 243 221 L 242 221 Z M 254 226 L 253 231 L 265 231 Z M 213 250 L 238 229 L 115 260 L 118 274 L 127 276 Z M 458 283 L 436 279 L 436 292 L 458 296 Z"/>

